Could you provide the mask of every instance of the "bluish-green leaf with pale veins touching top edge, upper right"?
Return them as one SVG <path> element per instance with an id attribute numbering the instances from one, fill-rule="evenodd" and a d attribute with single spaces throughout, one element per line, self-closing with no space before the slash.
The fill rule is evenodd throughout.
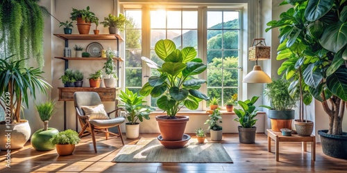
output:
<path id="1" fill-rule="evenodd" d="M 310 0 L 305 10 L 305 18 L 308 21 L 316 21 L 331 10 L 335 0 Z"/>

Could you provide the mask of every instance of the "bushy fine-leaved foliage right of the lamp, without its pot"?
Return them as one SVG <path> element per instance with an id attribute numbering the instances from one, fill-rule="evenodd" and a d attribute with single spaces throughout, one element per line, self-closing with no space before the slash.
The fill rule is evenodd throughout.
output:
<path id="1" fill-rule="evenodd" d="M 296 107 L 296 102 L 300 99 L 300 95 L 296 92 L 293 95 L 294 98 L 292 98 L 288 91 L 289 84 L 289 81 L 283 78 L 273 79 L 271 83 L 266 84 L 264 95 L 266 99 L 270 100 L 271 107 L 262 107 L 277 111 L 287 111 Z"/>

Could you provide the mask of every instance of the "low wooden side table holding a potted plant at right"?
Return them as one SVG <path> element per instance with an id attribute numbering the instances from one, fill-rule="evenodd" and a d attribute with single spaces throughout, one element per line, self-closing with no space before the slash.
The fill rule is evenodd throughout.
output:
<path id="1" fill-rule="evenodd" d="M 292 134 L 291 136 L 283 136 L 281 132 L 272 131 L 267 129 L 267 142 L 268 151 L 271 152 L 271 138 L 275 140 L 276 143 L 276 161 L 279 160 L 279 148 L 280 142 L 302 142 L 302 149 L 307 152 L 307 142 L 311 142 L 311 159 L 316 160 L 316 136 L 298 136 L 297 134 Z"/>

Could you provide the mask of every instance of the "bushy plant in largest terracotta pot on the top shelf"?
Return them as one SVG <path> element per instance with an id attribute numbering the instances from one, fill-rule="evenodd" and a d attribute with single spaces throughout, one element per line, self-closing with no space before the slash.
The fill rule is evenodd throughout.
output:
<path id="1" fill-rule="evenodd" d="M 89 6 L 87 6 L 86 10 L 77 10 L 76 8 L 72 8 L 70 15 L 70 19 L 72 21 L 77 21 L 76 25 L 78 28 L 78 33 L 80 34 L 89 34 L 91 23 L 99 21 L 94 12 L 90 11 Z"/>

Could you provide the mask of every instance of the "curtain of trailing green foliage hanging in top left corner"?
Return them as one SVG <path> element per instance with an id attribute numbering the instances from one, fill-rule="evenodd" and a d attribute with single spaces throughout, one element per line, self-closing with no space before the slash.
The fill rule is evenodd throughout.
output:
<path id="1" fill-rule="evenodd" d="M 35 58 L 40 68 L 44 64 L 44 7 L 39 0 L 3 0 L 0 3 L 0 55 L 14 55 L 11 61 Z M 28 60 L 22 61 L 26 66 Z"/>

